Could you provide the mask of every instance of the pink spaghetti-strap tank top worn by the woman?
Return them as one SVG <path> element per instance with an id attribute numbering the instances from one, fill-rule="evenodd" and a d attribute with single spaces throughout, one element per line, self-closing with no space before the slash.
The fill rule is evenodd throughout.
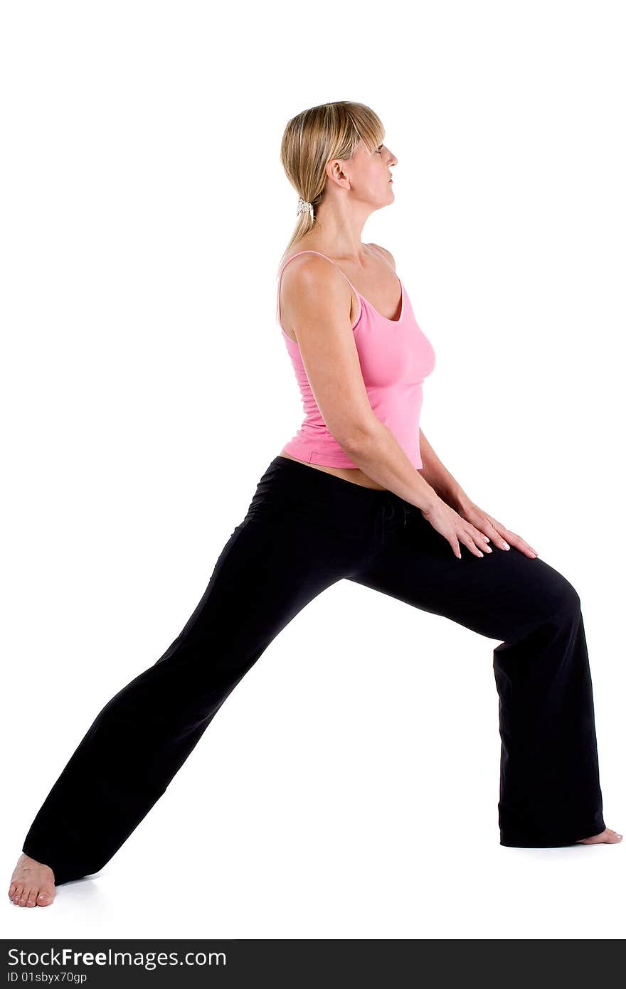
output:
<path id="1" fill-rule="evenodd" d="M 368 244 L 389 264 L 387 258 Z M 283 447 L 298 460 L 326 467 L 357 467 L 342 450 L 326 428 L 303 364 L 300 348 L 287 335 L 281 322 L 280 291 L 283 271 L 299 254 L 320 254 L 316 250 L 301 250 L 288 258 L 280 270 L 278 280 L 278 322 L 302 394 L 305 419 L 296 435 Z M 320 254 L 326 257 L 325 254 Z M 330 261 L 330 258 L 326 258 Z M 334 264 L 333 261 L 330 261 Z M 338 265 L 335 265 L 338 268 Z M 339 268 L 339 271 L 341 269 Z M 343 275 L 343 272 L 341 272 Z M 352 324 L 354 341 L 361 364 L 361 373 L 370 405 L 378 418 L 390 429 L 402 450 L 415 468 L 422 466 L 419 453 L 419 414 L 421 411 L 421 386 L 426 375 L 435 366 L 435 353 L 413 315 L 408 296 L 398 275 L 402 290 L 402 308 L 398 319 L 381 315 L 354 288 L 343 275 L 359 300 L 359 315 Z"/>

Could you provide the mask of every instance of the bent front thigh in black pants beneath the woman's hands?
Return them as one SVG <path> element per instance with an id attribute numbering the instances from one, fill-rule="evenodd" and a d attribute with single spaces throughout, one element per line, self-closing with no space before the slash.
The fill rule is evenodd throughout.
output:
<path id="1" fill-rule="evenodd" d="M 386 551 L 348 580 L 508 641 L 566 607 L 580 606 L 574 586 L 540 557 L 531 559 L 514 547 L 493 547 L 477 557 L 462 546 L 459 559 L 418 510 L 410 511 Z"/>

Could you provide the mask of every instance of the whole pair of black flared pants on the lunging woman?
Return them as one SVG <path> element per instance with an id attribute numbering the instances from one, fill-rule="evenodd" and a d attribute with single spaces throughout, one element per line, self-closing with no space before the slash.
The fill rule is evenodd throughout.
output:
<path id="1" fill-rule="evenodd" d="M 276 457 L 184 629 L 100 711 L 23 851 L 57 883 L 101 869 L 275 636 L 343 578 L 502 640 L 501 845 L 564 846 L 603 831 L 577 591 L 514 547 L 461 553 L 398 495 Z"/>

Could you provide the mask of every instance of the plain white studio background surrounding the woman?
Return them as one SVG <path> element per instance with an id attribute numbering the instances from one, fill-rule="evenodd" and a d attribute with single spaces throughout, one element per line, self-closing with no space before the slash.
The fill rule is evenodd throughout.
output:
<path id="1" fill-rule="evenodd" d="M 3 5 L 7 891 L 62 766 L 181 630 L 300 425 L 280 140 L 341 99 L 399 159 L 363 240 L 436 351 L 424 433 L 581 595 L 624 831 L 623 15 Z M 97 877 L 46 909 L 5 898 L 5 937 L 623 937 L 626 847 L 498 844 L 497 644 L 335 585 Z"/>

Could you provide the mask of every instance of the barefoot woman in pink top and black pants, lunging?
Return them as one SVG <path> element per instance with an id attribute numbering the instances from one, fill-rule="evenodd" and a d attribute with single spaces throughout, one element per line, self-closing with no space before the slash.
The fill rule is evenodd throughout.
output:
<path id="1" fill-rule="evenodd" d="M 434 351 L 392 255 L 361 242 L 369 215 L 394 201 L 383 137 L 376 114 L 349 102 L 286 128 L 282 161 L 302 199 L 277 315 L 305 421 L 185 628 L 105 705 L 52 787 L 13 873 L 14 903 L 45 906 L 55 884 L 102 868 L 241 677 L 343 578 L 503 640 L 501 845 L 621 840 L 602 818 L 579 595 L 463 492 L 419 430 Z"/>

